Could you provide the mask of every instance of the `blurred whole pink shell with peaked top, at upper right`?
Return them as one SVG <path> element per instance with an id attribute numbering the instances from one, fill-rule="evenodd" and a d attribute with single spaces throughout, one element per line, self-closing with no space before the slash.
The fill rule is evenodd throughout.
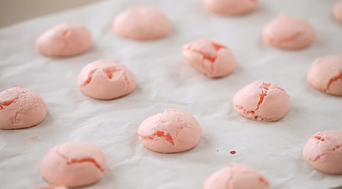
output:
<path id="1" fill-rule="evenodd" d="M 280 14 L 263 30 L 265 43 L 281 49 L 301 49 L 314 41 L 314 27 L 302 18 Z"/>

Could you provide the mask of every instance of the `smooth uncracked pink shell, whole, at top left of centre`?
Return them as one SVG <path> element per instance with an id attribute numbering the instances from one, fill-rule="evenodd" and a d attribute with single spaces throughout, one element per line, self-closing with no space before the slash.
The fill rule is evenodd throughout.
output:
<path id="1" fill-rule="evenodd" d="M 149 40 L 167 36 L 172 28 L 169 18 L 152 7 L 126 10 L 113 21 L 112 28 L 122 37 Z"/>

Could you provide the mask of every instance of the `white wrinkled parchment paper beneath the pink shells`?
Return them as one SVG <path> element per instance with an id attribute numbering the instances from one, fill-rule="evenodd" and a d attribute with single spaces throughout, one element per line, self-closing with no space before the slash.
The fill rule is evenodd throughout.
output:
<path id="1" fill-rule="evenodd" d="M 342 185 L 342 176 L 319 173 L 302 158 L 312 134 L 342 130 L 342 98 L 321 93 L 305 79 L 313 60 L 342 54 L 342 25 L 331 16 L 334 1 L 261 0 L 257 11 L 221 17 L 203 10 L 199 0 L 115 0 L 33 19 L 0 29 L 0 91 L 22 86 L 47 102 L 45 120 L 29 129 L 0 131 L 0 188 L 47 185 L 39 168 L 54 145 L 71 140 L 100 146 L 108 158 L 104 178 L 89 189 L 186 189 L 202 187 L 215 170 L 241 162 L 260 170 L 275 189 L 327 189 Z M 173 22 L 170 36 L 134 41 L 115 35 L 111 21 L 120 11 L 153 5 Z M 281 51 L 263 44 L 261 31 L 279 13 L 306 18 L 317 32 L 304 50 Z M 49 58 L 34 47 L 43 31 L 62 22 L 86 25 L 93 46 L 70 58 Z M 222 79 L 209 79 L 190 67 L 181 55 L 186 42 L 209 38 L 231 48 L 238 67 Z M 115 100 L 82 94 L 77 76 L 87 63 L 113 59 L 136 75 L 136 90 Z M 277 122 L 243 118 L 232 98 L 254 80 L 283 87 L 291 99 L 287 116 Z M 190 151 L 161 154 L 140 144 L 137 129 L 148 116 L 166 108 L 193 114 L 203 135 Z M 236 154 L 229 151 L 235 150 Z"/>

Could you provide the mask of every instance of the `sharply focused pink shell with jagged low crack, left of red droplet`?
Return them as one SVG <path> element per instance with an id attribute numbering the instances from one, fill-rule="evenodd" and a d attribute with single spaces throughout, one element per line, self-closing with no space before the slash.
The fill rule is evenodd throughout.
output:
<path id="1" fill-rule="evenodd" d="M 170 108 L 145 119 L 139 126 L 138 134 L 147 149 L 174 153 L 197 146 L 202 128 L 191 114 Z"/>

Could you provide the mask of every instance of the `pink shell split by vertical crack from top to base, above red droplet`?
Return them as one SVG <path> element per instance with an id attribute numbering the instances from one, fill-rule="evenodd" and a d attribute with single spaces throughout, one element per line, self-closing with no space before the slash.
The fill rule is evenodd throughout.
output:
<path id="1" fill-rule="evenodd" d="M 290 109 L 290 97 L 284 89 L 267 81 L 254 81 L 233 98 L 235 110 L 248 119 L 277 121 Z"/>

